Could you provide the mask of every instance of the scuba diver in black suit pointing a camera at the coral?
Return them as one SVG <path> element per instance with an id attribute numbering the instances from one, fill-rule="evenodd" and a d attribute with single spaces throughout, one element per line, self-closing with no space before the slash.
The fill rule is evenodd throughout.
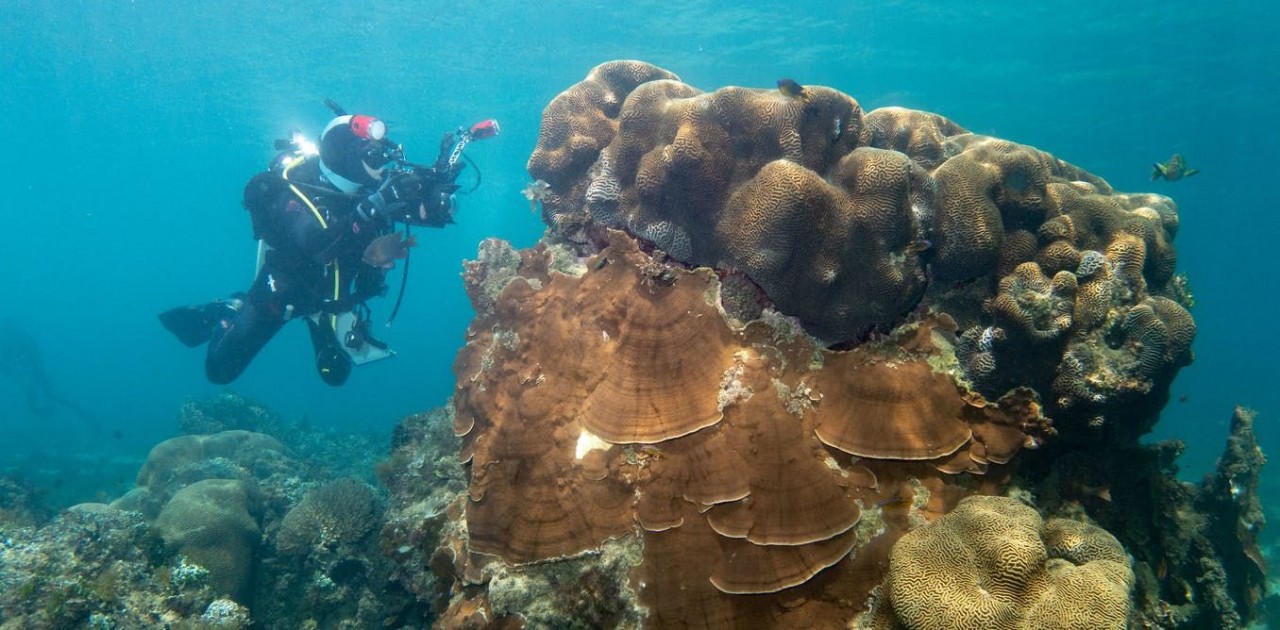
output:
<path id="1" fill-rule="evenodd" d="M 383 120 L 348 114 L 332 100 L 325 104 L 335 118 L 319 146 L 300 133 L 276 141 L 282 152 L 244 187 L 243 204 L 259 239 L 259 268 L 248 291 L 160 314 L 161 324 L 186 346 L 209 344 L 205 374 L 214 383 L 239 376 L 297 318 L 311 332 L 316 370 L 330 385 L 346 383 L 355 365 L 393 356 L 370 334 L 366 301 L 385 295 L 387 271 L 403 259 L 390 325 L 415 245 L 410 225 L 453 223 L 462 150 L 472 140 L 498 134 L 492 119 L 445 133 L 436 161 L 424 166 L 404 159 Z M 475 186 L 479 184 L 477 169 Z M 403 238 L 397 223 L 404 225 Z"/>

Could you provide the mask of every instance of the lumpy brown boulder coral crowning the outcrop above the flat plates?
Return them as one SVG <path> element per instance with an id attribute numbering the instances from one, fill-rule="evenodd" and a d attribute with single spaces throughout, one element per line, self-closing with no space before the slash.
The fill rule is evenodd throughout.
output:
<path id="1" fill-rule="evenodd" d="M 1144 301 L 1181 297 L 1172 200 L 1116 192 L 937 114 L 804 93 L 704 92 L 641 61 L 594 68 L 547 106 L 529 160 L 550 186 L 553 236 L 589 255 L 623 229 L 675 261 L 741 274 L 828 346 L 941 305 L 963 332 L 1007 335 L 963 357 L 984 394 L 1025 382 L 1079 416 L 1068 425 L 1149 424 L 1126 392 L 1166 387 L 1189 355 L 1100 344 L 1132 309 L 1149 320 Z M 1166 316 L 1194 335 L 1189 315 Z M 1129 328 L 1156 339 L 1146 321 Z"/>

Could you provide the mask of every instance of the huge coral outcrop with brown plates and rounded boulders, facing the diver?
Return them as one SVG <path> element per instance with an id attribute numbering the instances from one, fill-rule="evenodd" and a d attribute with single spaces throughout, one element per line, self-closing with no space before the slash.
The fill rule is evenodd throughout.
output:
<path id="1" fill-rule="evenodd" d="M 1138 442 L 1196 337 L 1169 197 L 937 114 L 643 61 L 547 105 L 529 173 L 544 238 L 465 271 L 467 489 L 430 535 L 384 530 L 442 626 L 1256 615 L 1252 416 L 1202 485 Z"/>

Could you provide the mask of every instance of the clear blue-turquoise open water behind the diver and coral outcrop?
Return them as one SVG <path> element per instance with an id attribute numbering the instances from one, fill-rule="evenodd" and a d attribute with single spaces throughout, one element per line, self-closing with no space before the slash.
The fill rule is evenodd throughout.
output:
<path id="1" fill-rule="evenodd" d="M 141 457 L 173 433 L 183 400 L 223 391 L 205 382 L 204 350 L 177 343 L 156 314 L 247 287 L 255 246 L 241 188 L 271 158 L 273 138 L 320 131 L 325 97 L 385 118 L 422 161 L 460 124 L 494 117 L 503 134 L 470 151 L 484 183 L 458 224 L 420 233 L 404 306 L 384 333 L 398 357 L 334 389 L 316 378 L 294 324 L 229 389 L 344 429 L 389 430 L 443 403 L 471 318 L 462 260 L 485 237 L 536 241 L 541 225 L 518 191 L 541 108 L 620 58 L 704 90 L 792 77 L 868 110 L 932 110 L 1117 190 L 1171 195 L 1199 335 L 1156 435 L 1187 439 L 1187 471 L 1198 475 L 1243 403 L 1261 412 L 1276 451 L 1280 10 L 1119 4 L 8 0 L 3 315 L 42 343 L 64 394 L 119 433 L 104 439 L 65 414 L 31 417 L 0 382 L 0 452 Z M 1148 182 L 1151 163 L 1172 152 L 1202 173 Z M 375 315 L 390 302 L 375 302 Z"/>

